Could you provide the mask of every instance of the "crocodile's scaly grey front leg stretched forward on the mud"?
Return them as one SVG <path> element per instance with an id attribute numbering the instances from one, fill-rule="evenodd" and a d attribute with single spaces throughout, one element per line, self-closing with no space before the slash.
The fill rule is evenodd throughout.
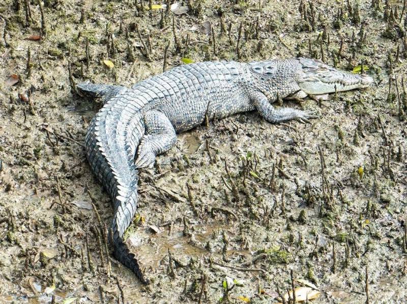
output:
<path id="1" fill-rule="evenodd" d="M 251 100 L 260 115 L 272 123 L 279 123 L 292 119 L 296 119 L 301 122 L 309 122 L 308 119 L 317 118 L 312 111 L 301 111 L 293 108 L 280 108 L 276 110 L 269 103 L 266 95 L 261 92 L 253 93 Z"/>

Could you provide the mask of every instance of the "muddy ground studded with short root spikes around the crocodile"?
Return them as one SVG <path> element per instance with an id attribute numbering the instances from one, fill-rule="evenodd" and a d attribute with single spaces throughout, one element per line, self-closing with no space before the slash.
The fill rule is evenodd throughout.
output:
<path id="1" fill-rule="evenodd" d="M 47 0 L 43 22 L 37 1 L 0 6 L 0 302 L 274 303 L 290 270 L 321 291 L 314 303 L 405 302 L 402 1 L 143 5 Z M 83 149 L 101 105 L 74 84 L 161 73 L 168 44 L 166 69 L 306 56 L 348 71 L 363 61 L 375 84 L 285 103 L 315 110 L 312 124 L 253 112 L 179 134 L 140 173 L 126 237 L 152 278 L 143 286 L 106 258 L 112 208 Z"/>

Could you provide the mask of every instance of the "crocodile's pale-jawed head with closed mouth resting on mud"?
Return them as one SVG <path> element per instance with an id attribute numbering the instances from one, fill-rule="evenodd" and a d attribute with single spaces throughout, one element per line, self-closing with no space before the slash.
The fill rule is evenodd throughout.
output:
<path id="1" fill-rule="evenodd" d="M 351 74 L 339 71 L 322 61 L 298 58 L 299 69 L 296 81 L 306 94 L 319 95 L 333 93 L 336 90 L 348 91 L 368 87 L 373 79 L 367 75 Z"/>

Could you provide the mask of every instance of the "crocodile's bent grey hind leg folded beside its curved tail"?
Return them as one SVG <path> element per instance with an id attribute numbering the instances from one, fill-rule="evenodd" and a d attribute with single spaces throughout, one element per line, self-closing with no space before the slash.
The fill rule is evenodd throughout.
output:
<path id="1" fill-rule="evenodd" d="M 169 119 L 159 111 L 148 111 L 144 114 L 146 132 L 138 146 L 135 165 L 139 168 L 151 168 L 156 155 L 162 154 L 177 141 L 175 129 Z"/>

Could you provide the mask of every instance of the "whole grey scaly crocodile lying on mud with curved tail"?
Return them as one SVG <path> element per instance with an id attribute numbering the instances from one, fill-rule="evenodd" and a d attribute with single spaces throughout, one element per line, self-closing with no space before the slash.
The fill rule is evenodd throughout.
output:
<path id="1" fill-rule="evenodd" d="M 206 61 L 173 67 L 131 88 L 82 82 L 80 95 L 100 97 L 103 107 L 85 137 L 92 171 L 114 207 L 114 256 L 148 284 L 143 269 L 123 240 L 137 206 L 138 168 L 153 167 L 156 155 L 175 145 L 176 133 L 209 120 L 257 110 L 271 123 L 309 122 L 314 112 L 274 108 L 280 98 L 368 87 L 365 74 L 351 74 L 320 60 L 273 59 L 254 62 Z"/>

